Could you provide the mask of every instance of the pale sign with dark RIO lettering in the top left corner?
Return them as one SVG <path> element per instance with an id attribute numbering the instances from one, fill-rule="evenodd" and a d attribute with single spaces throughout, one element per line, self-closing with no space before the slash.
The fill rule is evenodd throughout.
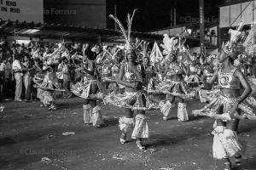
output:
<path id="1" fill-rule="evenodd" d="M 43 23 L 44 0 L 0 0 L 0 18 Z"/>

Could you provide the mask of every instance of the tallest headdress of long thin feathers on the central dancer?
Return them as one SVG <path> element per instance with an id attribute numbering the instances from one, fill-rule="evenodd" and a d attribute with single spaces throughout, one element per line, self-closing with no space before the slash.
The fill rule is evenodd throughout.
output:
<path id="1" fill-rule="evenodd" d="M 112 18 L 119 26 L 119 31 L 121 32 L 122 37 L 124 37 L 125 39 L 126 50 L 131 50 L 131 48 L 135 48 L 131 42 L 131 24 L 136 11 L 137 9 L 134 9 L 132 14 L 127 14 L 127 31 L 125 30 L 125 27 L 122 25 L 122 23 L 117 17 L 114 17 L 113 14 L 109 15 L 109 17 Z"/>

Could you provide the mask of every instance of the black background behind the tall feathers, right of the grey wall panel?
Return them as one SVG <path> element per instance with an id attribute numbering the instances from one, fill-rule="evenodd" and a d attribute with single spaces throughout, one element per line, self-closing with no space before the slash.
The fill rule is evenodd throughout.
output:
<path id="1" fill-rule="evenodd" d="M 205 0 L 205 16 L 218 19 L 218 5 L 224 0 Z M 126 14 L 138 8 L 133 22 L 134 31 L 152 31 L 171 26 L 171 9 L 176 8 L 177 25 L 184 24 L 179 20 L 182 16 L 199 17 L 199 0 L 107 0 L 107 26 L 113 28 L 113 20 L 108 15 L 114 13 L 117 5 L 117 16 L 124 22 Z"/>

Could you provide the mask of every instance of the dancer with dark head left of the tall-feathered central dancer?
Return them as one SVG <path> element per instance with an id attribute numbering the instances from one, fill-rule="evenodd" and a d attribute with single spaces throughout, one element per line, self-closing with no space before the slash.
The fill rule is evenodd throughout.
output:
<path id="1" fill-rule="evenodd" d="M 78 95 L 84 99 L 84 124 L 94 127 L 102 127 L 103 118 L 101 107 L 97 105 L 96 99 L 102 98 L 100 94 L 100 86 L 98 85 L 98 73 L 96 70 L 96 53 L 92 52 L 89 47 L 84 49 L 84 55 L 87 58 L 86 63 L 80 69 L 82 76 L 81 82 L 73 85 L 71 91 L 73 94 Z"/>

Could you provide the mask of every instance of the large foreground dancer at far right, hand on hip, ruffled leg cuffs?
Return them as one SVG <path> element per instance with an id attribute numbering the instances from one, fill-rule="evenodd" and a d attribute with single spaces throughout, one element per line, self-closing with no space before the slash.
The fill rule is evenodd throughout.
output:
<path id="1" fill-rule="evenodd" d="M 239 26 L 241 28 L 241 26 Z M 212 116 L 216 119 L 212 144 L 212 154 L 216 159 L 224 159 L 225 170 L 231 169 L 230 157 L 235 156 L 236 165 L 240 165 L 244 147 L 236 134 L 239 119 L 235 116 L 241 114 L 253 116 L 253 109 L 246 103 L 248 95 L 252 92 L 241 70 L 234 66 L 234 60 L 241 54 L 244 47 L 240 39 L 241 33 L 230 31 L 230 41 L 227 42 L 218 60 L 223 64 L 216 70 L 209 82 L 204 83 L 204 88 L 212 88 L 212 84 L 218 80 L 220 93 L 202 110 L 193 111 L 195 115 Z M 244 88 L 240 94 L 241 86 Z M 224 117 L 228 117 L 225 118 Z"/>

